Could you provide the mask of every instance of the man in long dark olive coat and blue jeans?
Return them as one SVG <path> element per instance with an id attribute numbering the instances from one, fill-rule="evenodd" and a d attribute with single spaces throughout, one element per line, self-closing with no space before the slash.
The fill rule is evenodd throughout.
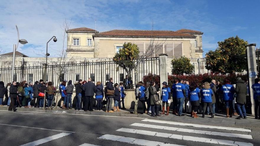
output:
<path id="1" fill-rule="evenodd" d="M 239 117 L 237 119 L 244 118 L 246 119 L 246 109 L 245 109 L 245 104 L 246 104 L 246 93 L 247 93 L 247 87 L 245 84 L 245 81 L 239 78 L 236 83 L 236 88 L 237 92 L 237 97 L 236 97 L 236 102 L 237 102 L 237 108 L 239 112 Z M 241 111 L 242 108 L 242 111 Z"/>

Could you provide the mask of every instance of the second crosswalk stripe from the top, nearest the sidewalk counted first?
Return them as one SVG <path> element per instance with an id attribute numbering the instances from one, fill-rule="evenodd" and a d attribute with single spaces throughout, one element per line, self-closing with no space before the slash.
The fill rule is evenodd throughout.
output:
<path id="1" fill-rule="evenodd" d="M 198 134 L 207 134 L 207 135 L 218 135 L 218 136 L 239 137 L 239 138 L 253 139 L 252 135 L 247 135 L 247 134 L 235 134 L 235 133 L 225 133 L 225 132 L 193 130 L 193 129 L 168 127 L 168 126 L 141 124 L 141 123 L 134 123 L 134 124 L 131 124 L 130 126 L 147 127 L 147 128 L 155 128 L 155 129 L 165 129 L 165 130 L 179 131 L 179 132 L 188 132 L 188 133 L 198 133 Z"/>

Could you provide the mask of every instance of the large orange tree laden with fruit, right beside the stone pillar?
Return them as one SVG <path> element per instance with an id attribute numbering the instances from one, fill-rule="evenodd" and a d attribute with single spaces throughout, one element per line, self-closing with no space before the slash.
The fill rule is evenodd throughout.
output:
<path id="1" fill-rule="evenodd" d="M 246 59 L 238 59 L 237 56 L 246 54 L 247 41 L 236 36 L 217 43 L 215 51 L 206 53 L 206 69 L 222 74 L 246 70 Z"/>

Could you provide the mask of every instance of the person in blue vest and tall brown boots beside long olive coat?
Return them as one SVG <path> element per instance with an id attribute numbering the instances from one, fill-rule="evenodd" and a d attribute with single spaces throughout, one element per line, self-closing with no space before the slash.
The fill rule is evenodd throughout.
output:
<path id="1" fill-rule="evenodd" d="M 235 88 L 233 85 L 230 84 L 229 80 L 225 80 L 225 83 L 220 88 L 220 91 L 222 92 L 222 98 L 226 105 L 227 118 L 229 117 L 231 118 L 233 112 L 233 100 L 234 100 Z"/>

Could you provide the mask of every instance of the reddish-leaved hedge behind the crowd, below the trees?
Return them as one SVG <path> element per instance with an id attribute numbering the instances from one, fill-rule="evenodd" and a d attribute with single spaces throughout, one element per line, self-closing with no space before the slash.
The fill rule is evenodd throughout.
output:
<path id="1" fill-rule="evenodd" d="M 224 83 L 224 81 L 227 79 L 231 81 L 231 83 L 235 84 L 236 83 L 236 78 L 241 77 L 242 80 L 247 80 L 246 75 L 235 75 L 235 74 L 230 74 L 230 75 L 217 75 L 217 74 L 208 74 L 205 73 L 203 75 L 170 75 L 168 76 L 168 85 L 171 87 L 173 84 L 174 79 L 181 78 L 183 80 L 189 81 L 189 83 L 197 83 L 199 86 L 202 86 L 202 83 L 204 82 L 211 82 L 212 79 L 219 81 L 220 83 Z M 158 81 L 160 83 L 160 76 L 155 75 L 155 74 L 148 74 L 147 76 L 143 77 L 144 83 L 146 82 L 151 82 L 151 81 Z"/>

